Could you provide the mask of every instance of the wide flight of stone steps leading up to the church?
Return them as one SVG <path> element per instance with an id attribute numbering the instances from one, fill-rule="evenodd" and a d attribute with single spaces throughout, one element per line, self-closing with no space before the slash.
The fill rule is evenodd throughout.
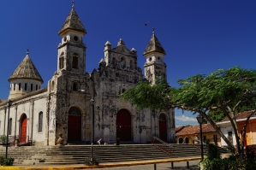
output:
<path id="1" fill-rule="evenodd" d="M 93 157 L 101 162 L 137 161 L 200 156 L 199 146 L 191 144 L 172 144 L 172 155 L 165 154 L 152 144 L 93 145 Z M 221 148 L 220 148 L 221 149 Z M 204 149 L 205 150 L 205 149 Z M 222 153 L 229 153 L 221 149 Z M 0 148 L 0 155 L 5 155 L 5 148 Z M 79 164 L 91 156 L 91 145 L 59 146 L 22 146 L 9 147 L 8 155 L 20 164 Z"/>

